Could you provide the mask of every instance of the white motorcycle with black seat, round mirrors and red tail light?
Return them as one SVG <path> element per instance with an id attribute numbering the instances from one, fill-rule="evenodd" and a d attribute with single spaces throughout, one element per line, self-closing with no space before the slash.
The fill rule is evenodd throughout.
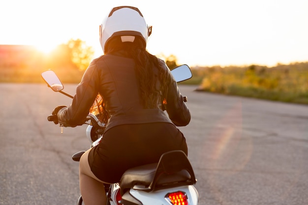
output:
<path id="1" fill-rule="evenodd" d="M 181 65 L 171 73 L 177 82 L 192 77 L 187 65 Z M 73 98 L 62 91 L 64 86 L 53 70 L 46 70 L 41 76 L 52 90 Z M 98 106 L 97 103 L 93 104 L 94 109 L 85 121 L 88 124 L 86 136 L 91 143 L 90 148 L 99 144 L 106 126 L 99 120 Z M 54 121 L 55 117 L 50 115 L 48 120 Z M 62 132 L 63 126 L 60 126 Z M 83 153 L 85 151 L 75 153 L 72 159 L 79 161 Z M 185 153 L 181 150 L 169 151 L 162 154 L 158 163 L 127 170 L 119 183 L 104 184 L 107 205 L 198 205 L 198 191 L 194 187 L 196 181 Z M 77 204 L 83 205 L 82 196 Z"/>

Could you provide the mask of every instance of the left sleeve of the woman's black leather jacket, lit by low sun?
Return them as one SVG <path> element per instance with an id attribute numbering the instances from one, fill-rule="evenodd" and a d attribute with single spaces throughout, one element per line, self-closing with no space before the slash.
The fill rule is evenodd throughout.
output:
<path id="1" fill-rule="evenodd" d="M 84 124 L 98 94 L 96 78 L 98 78 L 96 63 L 92 61 L 76 88 L 72 103 L 67 108 L 61 109 L 57 115 L 58 121 L 64 126 L 74 127 Z"/>

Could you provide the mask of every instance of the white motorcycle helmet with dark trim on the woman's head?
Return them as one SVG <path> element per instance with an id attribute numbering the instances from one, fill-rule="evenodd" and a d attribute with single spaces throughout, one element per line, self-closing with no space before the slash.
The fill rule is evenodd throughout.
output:
<path id="1" fill-rule="evenodd" d="M 146 46 L 151 33 L 152 26 L 148 27 L 138 8 L 119 6 L 113 8 L 99 26 L 99 41 L 103 52 L 114 36 L 121 36 L 122 42 L 134 42 L 135 36 L 141 36 Z"/>

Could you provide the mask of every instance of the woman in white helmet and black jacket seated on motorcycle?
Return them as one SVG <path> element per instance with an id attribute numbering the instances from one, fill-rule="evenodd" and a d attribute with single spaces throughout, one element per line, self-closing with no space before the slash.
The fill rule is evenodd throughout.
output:
<path id="1" fill-rule="evenodd" d="M 167 151 L 187 154 L 176 126 L 187 125 L 190 113 L 164 61 L 146 50 L 151 32 L 138 8 L 113 8 L 100 25 L 105 55 L 92 60 L 71 105 L 53 111 L 60 123 L 74 127 L 85 122 L 97 94 L 103 100 L 104 137 L 80 159 L 85 205 L 105 205 L 103 183 L 119 182 L 125 170 L 158 162 Z"/>

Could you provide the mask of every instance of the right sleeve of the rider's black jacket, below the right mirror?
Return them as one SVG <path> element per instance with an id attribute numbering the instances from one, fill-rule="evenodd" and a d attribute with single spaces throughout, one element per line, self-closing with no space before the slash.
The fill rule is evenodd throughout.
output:
<path id="1" fill-rule="evenodd" d="M 168 72 L 171 81 L 168 84 L 166 111 L 176 126 L 186 126 L 190 121 L 190 112 L 169 69 Z"/>

